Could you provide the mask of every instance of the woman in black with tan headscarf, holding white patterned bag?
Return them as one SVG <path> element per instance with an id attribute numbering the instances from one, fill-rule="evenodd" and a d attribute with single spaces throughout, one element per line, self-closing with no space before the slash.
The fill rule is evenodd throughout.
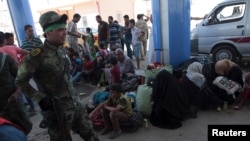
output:
<path id="1" fill-rule="evenodd" d="M 206 95 L 212 99 L 204 103 L 203 109 L 208 109 L 211 105 L 212 108 L 221 111 L 223 102 L 228 102 L 229 104 L 234 102 L 232 95 L 228 95 L 225 89 L 214 84 L 214 80 L 218 76 L 224 76 L 243 86 L 241 68 L 227 59 L 217 61 L 216 63 L 205 64 L 202 69 L 202 74 L 206 78 L 206 88 L 202 92 L 206 93 Z M 238 92 L 236 92 L 235 95 L 237 96 Z"/>

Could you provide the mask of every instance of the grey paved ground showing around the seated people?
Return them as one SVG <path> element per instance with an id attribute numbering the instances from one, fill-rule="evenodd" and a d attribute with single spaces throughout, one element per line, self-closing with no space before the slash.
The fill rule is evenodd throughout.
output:
<path id="1" fill-rule="evenodd" d="M 242 67 L 244 70 L 248 70 L 249 63 L 244 62 Z M 244 65 L 245 64 L 245 65 Z M 143 66 L 146 66 L 146 62 L 143 61 Z M 143 68 L 143 67 L 142 67 Z M 139 71 L 143 73 L 143 70 Z M 246 73 L 246 72 L 245 72 Z M 86 95 L 81 96 L 83 103 L 87 103 L 92 99 L 93 93 L 101 91 L 102 89 L 89 85 L 76 86 L 77 92 L 85 92 Z M 39 108 L 37 108 L 39 111 Z M 229 107 L 228 110 L 217 112 L 215 110 L 198 111 L 198 117 L 196 119 L 189 119 L 183 122 L 183 126 L 176 130 L 160 129 L 152 126 L 149 123 L 149 128 L 140 128 L 139 131 L 132 134 L 123 133 L 115 140 L 119 141 L 207 141 L 207 127 L 209 124 L 243 124 L 250 125 L 250 109 L 246 106 L 241 110 L 233 110 Z M 34 126 L 32 132 L 28 135 L 29 141 L 48 141 L 48 133 L 46 130 L 38 127 L 41 121 L 41 115 L 37 113 L 31 117 L 31 121 Z M 82 140 L 78 135 L 72 133 L 74 141 Z M 108 141 L 108 135 L 100 136 L 101 141 Z"/>

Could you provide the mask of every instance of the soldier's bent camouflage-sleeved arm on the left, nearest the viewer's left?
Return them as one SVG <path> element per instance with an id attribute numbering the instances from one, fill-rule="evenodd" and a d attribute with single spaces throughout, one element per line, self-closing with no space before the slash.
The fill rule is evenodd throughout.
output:
<path id="1" fill-rule="evenodd" d="M 24 60 L 24 62 L 19 66 L 16 82 L 18 86 L 21 87 L 22 91 L 24 92 L 25 96 L 32 98 L 36 102 L 39 102 L 44 95 L 34 89 L 31 84 L 29 83 L 30 79 L 33 77 L 38 64 L 34 63 L 36 61 L 32 61 L 29 56 Z"/>

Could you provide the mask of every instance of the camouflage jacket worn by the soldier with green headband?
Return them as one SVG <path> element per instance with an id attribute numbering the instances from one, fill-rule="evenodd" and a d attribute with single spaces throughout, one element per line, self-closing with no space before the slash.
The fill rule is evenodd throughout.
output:
<path id="1" fill-rule="evenodd" d="M 17 84 L 27 97 L 39 102 L 45 96 L 55 96 L 65 103 L 74 94 L 73 85 L 70 81 L 70 60 L 66 50 L 62 46 L 54 46 L 45 41 L 44 46 L 34 49 L 24 59 L 17 74 Z M 34 89 L 29 80 L 35 77 L 42 87 L 42 92 Z M 72 104 L 64 108 L 72 108 Z M 65 110 L 66 110 L 65 109 Z"/>

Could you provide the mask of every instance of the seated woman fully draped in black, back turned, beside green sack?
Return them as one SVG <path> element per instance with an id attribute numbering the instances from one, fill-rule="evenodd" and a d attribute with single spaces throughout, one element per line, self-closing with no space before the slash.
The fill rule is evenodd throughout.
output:
<path id="1" fill-rule="evenodd" d="M 166 70 L 159 72 L 153 84 L 152 113 L 150 121 L 154 126 L 176 129 L 191 115 L 188 96 L 175 76 Z"/>

